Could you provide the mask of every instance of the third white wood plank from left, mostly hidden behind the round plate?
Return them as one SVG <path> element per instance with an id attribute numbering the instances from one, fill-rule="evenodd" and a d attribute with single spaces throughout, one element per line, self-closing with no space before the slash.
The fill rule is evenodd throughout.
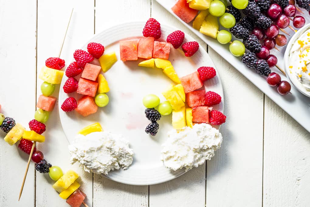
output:
<path id="1" fill-rule="evenodd" d="M 99 1 L 95 2 L 95 31 L 121 24 L 124 21 L 147 20 L 151 2 Z M 130 37 L 130 34 L 128 34 Z M 148 206 L 148 186 L 131 186 L 94 174 L 94 206 Z"/>

